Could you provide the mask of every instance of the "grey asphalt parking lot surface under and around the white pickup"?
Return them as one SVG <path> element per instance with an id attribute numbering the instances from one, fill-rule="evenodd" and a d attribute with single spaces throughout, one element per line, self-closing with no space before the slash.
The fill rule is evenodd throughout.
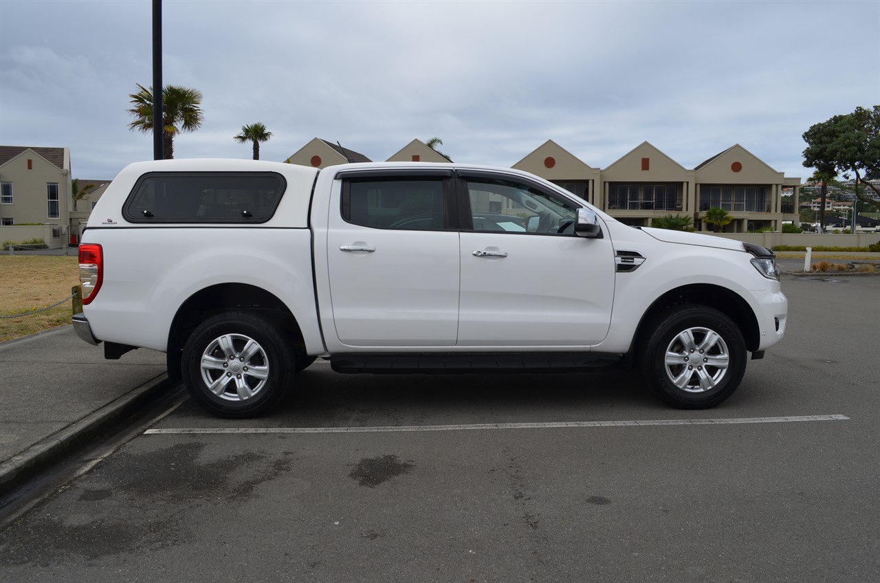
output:
<path id="1" fill-rule="evenodd" d="M 880 278 L 784 277 L 785 340 L 713 410 L 634 373 L 353 375 L 184 402 L 0 532 L 42 581 L 880 579 Z"/>

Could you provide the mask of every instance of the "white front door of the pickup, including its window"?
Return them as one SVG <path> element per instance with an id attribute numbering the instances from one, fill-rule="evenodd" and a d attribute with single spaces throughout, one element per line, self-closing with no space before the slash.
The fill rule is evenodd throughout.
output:
<path id="1" fill-rule="evenodd" d="M 458 346 L 587 346 L 608 333 L 614 254 L 574 234 L 578 205 L 543 185 L 487 173 L 458 181 Z"/>

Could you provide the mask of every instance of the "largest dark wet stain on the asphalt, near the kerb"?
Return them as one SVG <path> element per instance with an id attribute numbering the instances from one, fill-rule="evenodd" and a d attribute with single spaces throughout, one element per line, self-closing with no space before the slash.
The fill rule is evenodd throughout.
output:
<path id="1" fill-rule="evenodd" d="M 289 473 L 295 461 L 290 452 L 280 458 L 248 452 L 204 461 L 204 448 L 189 443 L 117 454 L 85 476 L 83 485 L 66 490 L 77 500 L 74 512 L 60 514 L 50 500 L 42 512 L 0 532 L 0 567 L 93 561 L 186 543 L 192 533 L 180 519 L 183 509 L 243 505 L 259 495 L 255 490 L 261 483 Z"/>

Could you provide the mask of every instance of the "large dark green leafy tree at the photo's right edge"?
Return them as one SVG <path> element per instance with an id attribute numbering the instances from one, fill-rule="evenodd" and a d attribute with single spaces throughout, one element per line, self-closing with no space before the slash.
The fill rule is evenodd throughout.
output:
<path id="1" fill-rule="evenodd" d="M 803 133 L 803 141 L 803 166 L 824 174 L 853 173 L 855 196 L 863 203 L 870 199 L 862 195 L 861 186 L 880 195 L 880 189 L 862 179 L 880 173 L 880 106 L 856 107 L 852 114 L 814 124 Z"/>

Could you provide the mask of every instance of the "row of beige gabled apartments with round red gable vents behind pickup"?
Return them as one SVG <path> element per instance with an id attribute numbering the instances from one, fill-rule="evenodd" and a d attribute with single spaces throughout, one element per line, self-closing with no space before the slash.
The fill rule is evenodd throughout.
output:
<path id="1" fill-rule="evenodd" d="M 362 158 L 357 161 L 368 161 L 363 154 L 347 152 Z M 316 137 L 287 161 L 324 167 L 348 159 L 338 145 Z M 450 160 L 414 139 L 388 161 Z M 702 219 L 712 207 L 727 210 L 733 218 L 725 232 L 780 231 L 785 221 L 799 222 L 801 179 L 775 171 L 739 144 L 686 168 L 643 142 L 611 166 L 598 168 L 547 140 L 513 167 L 566 188 L 627 225 L 650 226 L 654 218 L 681 213 L 693 218 L 698 231 L 709 231 Z M 783 201 L 785 195 L 791 200 Z"/>

